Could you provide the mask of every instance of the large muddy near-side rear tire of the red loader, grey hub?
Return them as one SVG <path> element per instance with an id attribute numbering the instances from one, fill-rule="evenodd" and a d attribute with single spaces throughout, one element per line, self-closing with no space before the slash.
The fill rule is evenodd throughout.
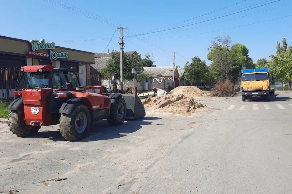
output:
<path id="1" fill-rule="evenodd" d="M 87 136 L 90 126 L 90 112 L 85 105 L 78 105 L 71 114 L 60 117 L 60 132 L 68 141 L 77 141 Z"/>

